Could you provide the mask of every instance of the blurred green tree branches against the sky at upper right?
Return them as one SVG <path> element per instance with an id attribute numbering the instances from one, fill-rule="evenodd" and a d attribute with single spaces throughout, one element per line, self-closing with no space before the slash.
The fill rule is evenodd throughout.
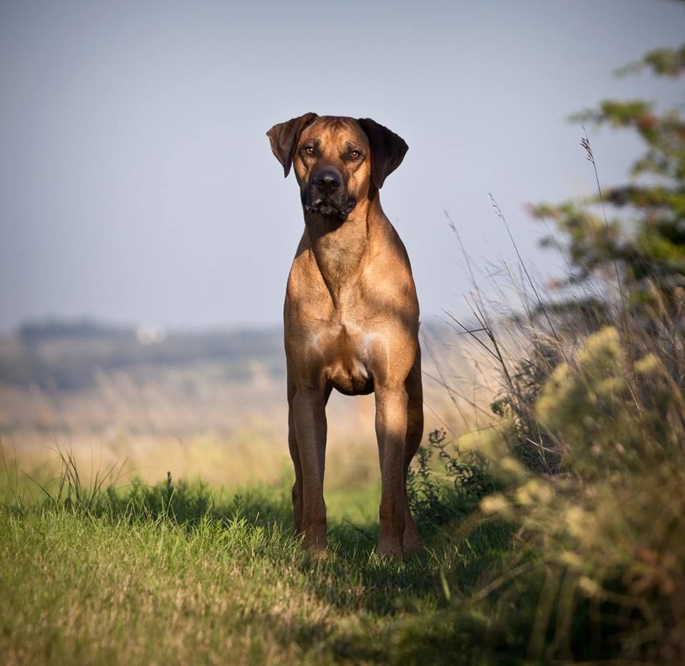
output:
<path id="1" fill-rule="evenodd" d="M 648 69 L 656 76 L 676 78 L 685 71 L 684 63 L 685 45 L 651 51 L 621 73 Z M 584 201 L 532 207 L 534 217 L 554 221 L 562 232 L 562 250 L 574 268 L 569 281 L 584 282 L 598 273 L 615 278 L 617 270 L 629 295 L 638 300 L 646 293 L 647 281 L 664 294 L 685 286 L 685 118 L 681 111 L 659 111 L 656 104 L 641 99 L 607 99 L 572 119 L 632 131 L 646 151 L 633 164 L 630 183 L 599 188 L 598 177 L 597 194 Z M 582 145 L 597 169 L 587 136 Z M 548 237 L 544 243 L 557 245 L 557 240 Z"/>

